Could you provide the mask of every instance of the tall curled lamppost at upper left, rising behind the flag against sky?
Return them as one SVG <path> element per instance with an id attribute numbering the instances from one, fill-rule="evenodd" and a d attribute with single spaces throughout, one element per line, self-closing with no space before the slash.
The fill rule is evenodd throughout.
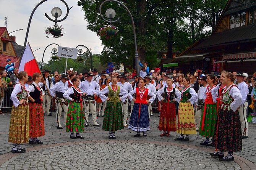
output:
<path id="1" fill-rule="evenodd" d="M 36 7 L 34 8 L 34 10 L 32 11 L 31 15 L 30 15 L 30 18 L 29 18 L 29 21 L 28 21 L 28 28 L 27 28 L 27 32 L 26 32 L 26 37 L 25 37 L 23 49 L 22 49 L 22 52 L 21 52 L 21 57 L 23 56 L 23 53 L 24 53 L 24 51 L 25 51 L 25 49 L 26 49 L 26 43 L 27 43 L 27 40 L 28 40 L 28 32 L 29 32 L 29 27 L 30 27 L 30 24 L 31 24 L 32 16 L 33 16 L 34 12 L 36 11 L 37 7 L 38 7 L 39 5 L 41 5 L 42 3 L 44 3 L 45 1 L 48 1 L 48 0 L 42 0 L 41 2 L 39 2 L 39 3 L 36 5 Z M 51 11 L 52 16 L 55 17 L 55 19 L 51 19 L 51 18 L 47 15 L 47 13 L 44 14 L 44 15 L 46 16 L 46 18 L 48 18 L 50 21 L 55 22 L 55 24 L 57 24 L 57 22 L 61 22 L 61 21 L 63 21 L 64 19 L 66 19 L 67 16 L 68 16 L 69 10 L 71 10 L 71 8 L 73 7 L 73 6 L 71 6 L 71 8 L 69 9 L 69 8 L 68 8 L 68 4 L 67 4 L 64 0 L 60 0 L 60 1 L 62 1 L 62 2 L 66 5 L 66 9 L 67 9 L 66 16 L 65 16 L 63 19 L 60 19 L 60 20 L 57 19 L 57 18 L 60 17 L 61 14 L 62 14 L 62 10 L 61 10 L 60 8 L 58 8 L 58 7 L 52 8 L 52 11 Z M 41 66 L 41 68 L 42 68 L 42 66 Z"/>

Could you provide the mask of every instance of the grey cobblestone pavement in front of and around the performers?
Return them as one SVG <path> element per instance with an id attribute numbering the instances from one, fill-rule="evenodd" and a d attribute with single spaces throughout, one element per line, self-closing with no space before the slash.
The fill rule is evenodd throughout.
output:
<path id="1" fill-rule="evenodd" d="M 159 117 L 151 117 L 147 137 L 134 138 L 135 132 L 125 128 L 110 140 L 101 127 L 89 125 L 80 133 L 85 139 L 70 139 L 65 128 L 57 129 L 55 112 L 45 115 L 45 136 L 42 145 L 22 144 L 27 152 L 12 154 L 8 142 L 10 113 L 0 115 L 0 170 L 76 170 L 76 169 L 173 169 L 173 170 L 255 170 L 256 123 L 249 123 L 249 138 L 243 140 L 243 151 L 234 153 L 234 162 L 220 162 L 209 156 L 215 148 L 200 146 L 205 139 L 190 135 L 190 141 L 174 141 L 179 134 L 160 137 Z M 129 117 L 128 117 L 129 119 Z M 63 117 L 62 120 L 63 122 Z M 89 123 L 92 122 L 89 117 Z M 97 122 L 102 124 L 103 117 Z"/>

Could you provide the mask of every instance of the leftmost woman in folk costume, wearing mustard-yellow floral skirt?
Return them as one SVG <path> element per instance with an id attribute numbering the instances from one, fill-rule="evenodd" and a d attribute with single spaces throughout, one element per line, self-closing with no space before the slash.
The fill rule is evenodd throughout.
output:
<path id="1" fill-rule="evenodd" d="M 25 71 L 17 75 L 18 83 L 15 84 L 11 93 L 13 107 L 11 109 L 11 120 L 9 128 L 9 142 L 13 143 L 11 153 L 24 153 L 26 149 L 21 148 L 20 143 L 27 143 L 29 138 L 29 107 L 28 99 L 35 100 L 29 96 L 29 91 L 24 84 L 28 81 Z"/>

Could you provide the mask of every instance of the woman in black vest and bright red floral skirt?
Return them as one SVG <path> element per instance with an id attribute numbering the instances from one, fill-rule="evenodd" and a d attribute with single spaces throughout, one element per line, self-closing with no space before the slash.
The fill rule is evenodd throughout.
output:
<path id="1" fill-rule="evenodd" d="M 43 98 L 44 90 L 38 85 L 42 81 L 42 76 L 39 73 L 34 73 L 32 76 L 33 83 L 29 85 L 29 95 L 35 100 L 29 100 L 29 136 L 30 144 L 43 144 L 37 137 L 44 136 L 44 109 Z"/>

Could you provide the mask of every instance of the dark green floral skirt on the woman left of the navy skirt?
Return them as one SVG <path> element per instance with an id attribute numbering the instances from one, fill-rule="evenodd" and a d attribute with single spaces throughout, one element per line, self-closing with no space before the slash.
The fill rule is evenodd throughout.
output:
<path id="1" fill-rule="evenodd" d="M 123 129 L 122 107 L 120 102 L 107 101 L 102 130 L 117 131 Z"/>

